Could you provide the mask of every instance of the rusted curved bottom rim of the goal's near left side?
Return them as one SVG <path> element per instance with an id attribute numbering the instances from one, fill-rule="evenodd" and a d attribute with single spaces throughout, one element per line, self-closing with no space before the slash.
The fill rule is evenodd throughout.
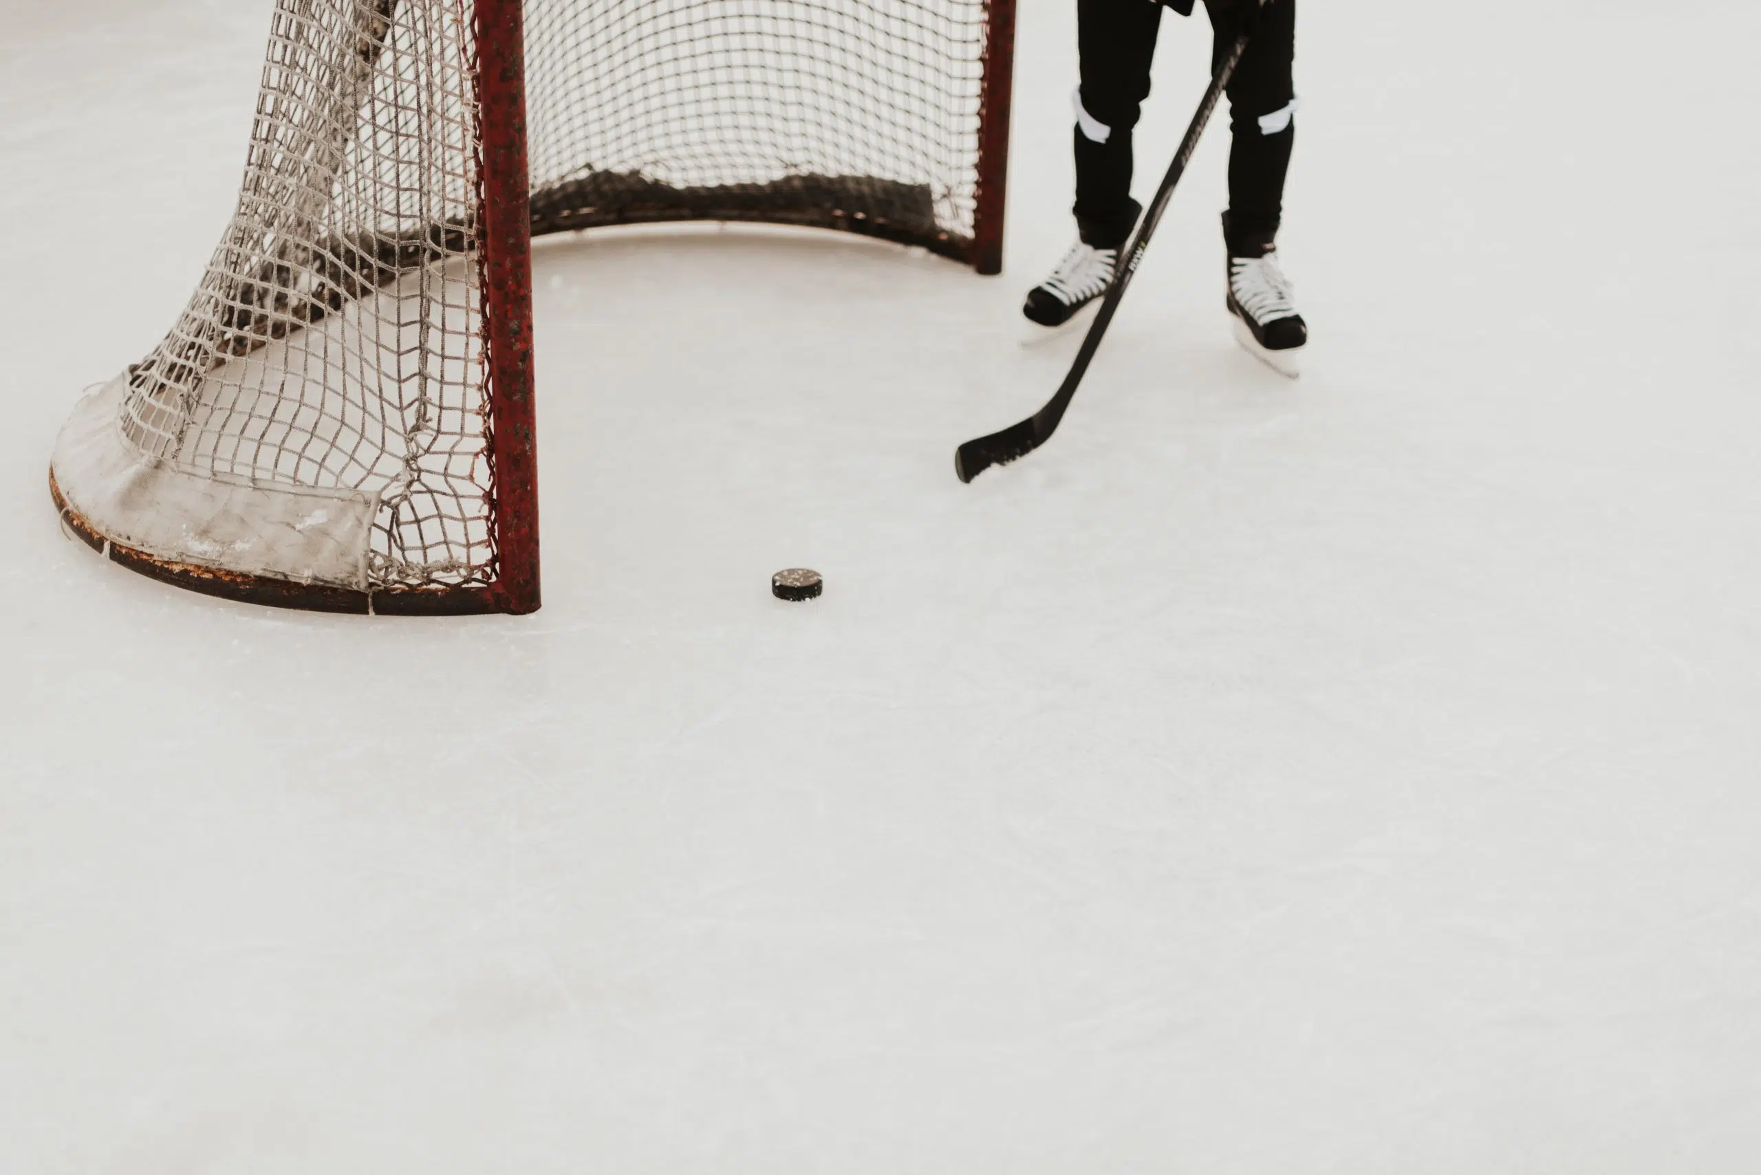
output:
<path id="1" fill-rule="evenodd" d="M 511 612 L 511 602 L 495 586 L 474 588 L 405 588 L 386 591 L 352 591 L 328 584 L 299 584 L 264 575 L 241 575 L 213 566 L 174 563 L 125 547 L 104 536 L 72 505 L 49 471 L 49 496 L 62 522 L 99 554 L 137 575 L 157 579 L 173 588 L 204 596 L 259 603 L 271 609 L 303 609 L 306 612 L 345 612 L 352 616 L 484 616 Z"/>

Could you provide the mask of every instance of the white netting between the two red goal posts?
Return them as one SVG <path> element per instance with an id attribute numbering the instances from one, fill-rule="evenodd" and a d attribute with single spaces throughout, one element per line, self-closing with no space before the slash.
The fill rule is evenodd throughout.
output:
<path id="1" fill-rule="evenodd" d="M 970 236 L 983 0 L 528 4 L 535 209 L 842 208 Z M 787 218 L 787 216 L 784 216 Z"/>

